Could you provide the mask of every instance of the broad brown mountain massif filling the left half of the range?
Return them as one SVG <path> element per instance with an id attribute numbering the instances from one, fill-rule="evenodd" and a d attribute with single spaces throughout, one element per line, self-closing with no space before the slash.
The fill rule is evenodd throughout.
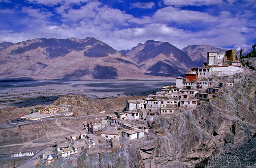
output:
<path id="1" fill-rule="evenodd" d="M 146 72 L 123 53 L 90 37 L 23 41 L 0 51 L 0 65 L 2 79 L 139 78 Z"/>

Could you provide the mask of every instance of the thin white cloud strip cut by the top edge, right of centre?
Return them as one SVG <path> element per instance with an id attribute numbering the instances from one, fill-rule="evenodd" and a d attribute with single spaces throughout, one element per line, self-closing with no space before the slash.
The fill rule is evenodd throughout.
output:
<path id="1" fill-rule="evenodd" d="M 223 3 L 223 0 L 163 0 L 166 5 L 175 5 L 175 6 L 202 6 L 202 5 L 213 5 Z"/>

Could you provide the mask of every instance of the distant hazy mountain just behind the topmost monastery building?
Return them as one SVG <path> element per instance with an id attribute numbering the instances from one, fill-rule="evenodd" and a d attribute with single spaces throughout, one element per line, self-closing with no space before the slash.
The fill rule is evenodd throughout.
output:
<path id="1" fill-rule="evenodd" d="M 225 53 L 224 49 L 211 45 L 188 45 L 182 51 L 191 57 L 196 67 L 201 67 L 207 61 L 207 52 Z"/>

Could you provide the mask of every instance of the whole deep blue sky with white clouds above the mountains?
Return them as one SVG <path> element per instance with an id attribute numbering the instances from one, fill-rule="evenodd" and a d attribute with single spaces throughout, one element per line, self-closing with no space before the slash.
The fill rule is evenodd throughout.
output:
<path id="1" fill-rule="evenodd" d="M 247 48 L 256 0 L 0 0 L 0 42 L 95 37 L 116 50 L 147 40 Z"/>

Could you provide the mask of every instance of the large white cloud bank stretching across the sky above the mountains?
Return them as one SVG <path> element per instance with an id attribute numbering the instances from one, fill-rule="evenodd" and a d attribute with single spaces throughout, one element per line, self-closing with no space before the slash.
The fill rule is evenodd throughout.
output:
<path id="1" fill-rule="evenodd" d="M 20 33 L 12 31 L 11 28 L 10 30 L 8 28 L 0 30 L 1 40 L 16 43 L 38 37 L 83 39 L 89 36 L 107 43 L 116 50 L 121 50 L 131 49 L 138 43 L 144 43 L 150 39 L 167 41 L 180 49 L 187 44 L 246 48 L 248 39 L 256 39 L 256 21 L 248 19 L 255 18 L 256 14 L 253 10 L 238 10 L 234 14 L 233 10 L 227 10 L 227 7 L 222 6 L 222 9 L 226 10 L 214 9 L 216 15 L 212 16 L 206 12 L 167 6 L 156 11 L 152 17 L 136 18 L 125 11 L 103 5 L 99 1 L 88 1 L 85 5 L 82 5 L 78 0 L 53 0 L 51 2 L 35 0 L 33 2 L 51 3 L 51 5 L 59 3 L 60 6 L 55 6 L 55 11 L 22 7 L 22 12 L 27 15 L 21 17 L 20 23 L 25 25 L 25 28 L 19 30 Z M 82 6 L 79 9 L 74 9 L 72 2 Z M 165 3 L 167 2 L 174 6 L 186 4 L 199 6 L 222 3 L 222 0 L 165 0 Z M 135 4 L 135 6 L 139 7 L 140 4 Z M 226 2 L 226 4 L 229 3 Z M 150 6 L 153 7 L 152 4 L 148 4 L 148 7 Z M 234 4 L 229 4 L 228 7 L 230 6 L 232 9 L 235 8 Z M 13 11 L 9 9 L 0 10 L 0 14 L 11 12 Z M 58 22 L 50 22 L 49 20 L 54 12 L 59 14 Z M 188 25 L 192 27 L 191 29 L 196 29 L 196 26 L 202 25 L 203 28 L 189 31 L 187 30 L 190 29 Z"/>

